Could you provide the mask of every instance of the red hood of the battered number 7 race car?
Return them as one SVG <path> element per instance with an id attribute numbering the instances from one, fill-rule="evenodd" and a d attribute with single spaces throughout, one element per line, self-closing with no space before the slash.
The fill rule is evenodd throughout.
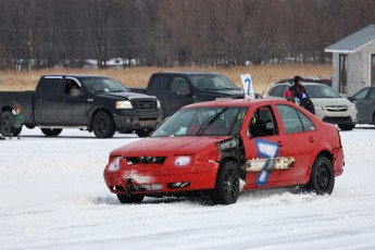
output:
<path id="1" fill-rule="evenodd" d="M 230 136 L 148 137 L 120 147 L 113 150 L 111 155 L 163 157 L 172 154 L 196 154 L 212 143 L 228 138 Z"/>

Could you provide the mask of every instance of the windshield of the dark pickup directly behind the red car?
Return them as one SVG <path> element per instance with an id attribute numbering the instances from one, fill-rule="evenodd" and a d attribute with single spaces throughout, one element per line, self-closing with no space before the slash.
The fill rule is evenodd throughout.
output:
<path id="1" fill-rule="evenodd" d="M 190 75 L 188 77 L 195 88 L 202 90 L 238 90 L 239 88 L 223 75 Z"/>

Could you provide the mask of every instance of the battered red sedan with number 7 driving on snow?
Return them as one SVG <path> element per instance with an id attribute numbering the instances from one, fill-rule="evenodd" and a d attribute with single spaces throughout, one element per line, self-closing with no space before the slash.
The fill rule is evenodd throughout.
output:
<path id="1" fill-rule="evenodd" d="M 338 128 L 280 99 L 216 100 L 184 107 L 148 138 L 113 150 L 104 180 L 122 203 L 145 196 L 210 196 L 302 186 L 332 193 L 342 174 Z"/>

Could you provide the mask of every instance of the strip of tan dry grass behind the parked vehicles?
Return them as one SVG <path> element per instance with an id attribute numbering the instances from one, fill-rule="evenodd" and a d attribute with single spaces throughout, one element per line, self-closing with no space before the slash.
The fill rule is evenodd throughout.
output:
<path id="1" fill-rule="evenodd" d="M 1 91 L 34 90 L 39 77 L 43 74 L 100 74 L 111 76 L 126 87 L 146 87 L 150 75 L 158 71 L 210 71 L 218 72 L 236 85 L 241 86 L 240 75 L 251 74 L 254 90 L 262 92 L 267 83 L 282 78 L 301 76 L 332 76 L 332 65 L 287 64 L 238 67 L 136 67 L 124 70 L 66 70 L 52 68 L 37 72 L 0 72 Z"/>

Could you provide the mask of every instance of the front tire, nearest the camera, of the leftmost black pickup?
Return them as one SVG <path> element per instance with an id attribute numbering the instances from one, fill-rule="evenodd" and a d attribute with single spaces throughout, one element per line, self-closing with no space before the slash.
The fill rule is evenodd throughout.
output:
<path id="1" fill-rule="evenodd" d="M 98 112 L 92 120 L 92 130 L 97 138 L 112 138 L 115 127 L 111 115 L 105 112 Z"/>

